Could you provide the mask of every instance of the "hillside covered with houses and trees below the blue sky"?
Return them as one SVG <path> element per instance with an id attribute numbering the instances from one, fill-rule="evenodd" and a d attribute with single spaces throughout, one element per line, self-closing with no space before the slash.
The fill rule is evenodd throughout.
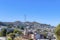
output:
<path id="1" fill-rule="evenodd" d="M 55 40 L 54 26 L 38 22 L 0 22 L 2 40 Z"/>

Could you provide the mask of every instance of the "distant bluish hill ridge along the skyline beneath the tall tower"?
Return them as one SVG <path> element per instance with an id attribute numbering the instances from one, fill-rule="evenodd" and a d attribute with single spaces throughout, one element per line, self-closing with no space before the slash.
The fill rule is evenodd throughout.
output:
<path id="1" fill-rule="evenodd" d="M 42 24 L 42 23 L 38 23 L 38 22 L 21 22 L 21 21 L 15 21 L 15 22 L 0 22 L 0 26 L 8 26 L 8 25 L 12 25 L 13 26 L 28 26 L 30 28 L 44 28 L 44 27 L 48 27 L 48 28 L 53 28 L 54 26 L 48 25 L 48 24 Z"/>

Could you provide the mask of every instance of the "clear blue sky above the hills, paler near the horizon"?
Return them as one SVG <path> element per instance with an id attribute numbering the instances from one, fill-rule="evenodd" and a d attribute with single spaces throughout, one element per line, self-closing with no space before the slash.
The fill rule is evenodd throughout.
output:
<path id="1" fill-rule="evenodd" d="M 60 0 L 0 0 L 0 21 L 60 23 Z"/>

